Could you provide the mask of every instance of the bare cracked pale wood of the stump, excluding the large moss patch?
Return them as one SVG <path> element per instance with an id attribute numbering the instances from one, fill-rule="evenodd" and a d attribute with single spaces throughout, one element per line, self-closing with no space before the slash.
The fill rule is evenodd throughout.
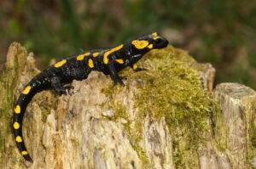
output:
<path id="1" fill-rule="evenodd" d="M 196 66 L 201 67 L 203 86 L 211 93 L 214 68 L 209 64 Z M 12 43 L 0 79 L 0 168 L 181 168 L 165 119 L 154 121 L 145 116 L 143 138 L 137 147 L 125 132 L 129 121 L 109 120 L 113 115 L 108 104 L 111 98 L 102 89 L 112 82 L 99 72 L 92 72 L 82 82 L 74 81 L 72 95 L 58 97 L 44 91 L 35 96 L 23 124 L 26 147 L 34 162 L 24 161 L 11 133 L 12 109 L 17 91 L 38 72 L 32 54 L 26 54 L 19 43 Z M 135 86 L 124 88 L 114 101 L 125 105 L 131 121 L 137 118 L 136 93 Z M 209 119 L 209 131 L 202 133 L 207 140 L 196 150 L 197 156 L 191 157 L 197 161 L 194 168 L 255 167 L 255 91 L 236 83 L 222 83 L 213 90 L 212 97 L 220 103 L 222 113 Z M 143 149 L 140 152 L 146 159 L 138 148 Z M 191 152 L 181 155 L 189 156 Z"/>

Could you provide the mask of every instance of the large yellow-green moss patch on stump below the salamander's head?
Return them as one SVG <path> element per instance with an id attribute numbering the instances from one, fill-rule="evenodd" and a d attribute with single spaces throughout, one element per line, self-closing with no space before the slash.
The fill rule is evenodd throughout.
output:
<path id="1" fill-rule="evenodd" d="M 133 135 L 142 136 L 141 126 L 145 115 L 155 121 L 165 118 L 175 138 L 183 138 L 186 143 L 185 146 L 177 144 L 174 148 L 178 149 L 175 155 L 177 157 L 181 157 L 183 150 L 196 152 L 198 144 L 204 139 L 201 138 L 201 132 L 208 130 L 207 120 L 218 110 L 217 104 L 207 95 L 207 90 L 202 88 L 198 71 L 190 66 L 193 62 L 195 59 L 189 57 L 185 51 L 169 46 L 143 57 L 139 63 L 148 71 L 133 73 L 131 69 L 125 69 L 120 73 L 120 76 L 129 76 L 126 82 L 127 90 L 131 85 L 131 79 L 137 81 L 138 93 L 135 97 L 135 106 L 139 109 L 139 113 L 137 119 L 132 121 L 136 124 L 134 126 L 137 126 L 137 131 L 133 131 Z M 112 95 L 119 93 L 121 87 L 114 88 L 114 90 L 108 88 L 105 93 Z M 125 116 L 125 120 L 127 119 L 129 117 Z M 136 137 L 136 139 L 142 138 Z M 132 135 L 131 139 L 134 139 Z M 177 159 L 175 159 L 176 165 L 180 166 L 183 158 Z"/>

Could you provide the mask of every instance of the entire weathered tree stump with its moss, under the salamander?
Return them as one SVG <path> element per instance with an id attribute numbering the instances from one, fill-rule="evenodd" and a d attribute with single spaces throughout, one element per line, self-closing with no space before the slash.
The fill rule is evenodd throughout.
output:
<path id="1" fill-rule="evenodd" d="M 121 72 L 125 87 L 92 72 L 68 95 L 38 93 L 23 124 L 30 163 L 15 147 L 11 121 L 15 99 L 39 70 L 12 43 L 0 75 L 0 168 L 255 167 L 253 89 L 224 83 L 212 92 L 212 65 L 171 46 L 140 63 L 148 71 Z"/>

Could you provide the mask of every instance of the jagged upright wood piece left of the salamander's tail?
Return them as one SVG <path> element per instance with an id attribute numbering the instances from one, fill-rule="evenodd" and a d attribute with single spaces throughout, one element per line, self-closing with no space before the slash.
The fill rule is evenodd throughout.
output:
<path id="1" fill-rule="evenodd" d="M 22 76 L 22 73 L 26 75 Z M 18 152 L 12 135 L 11 121 L 13 115 L 13 105 L 17 88 L 22 87 L 22 83 L 29 81 L 29 77 L 38 73 L 35 60 L 32 54 L 26 53 L 26 49 L 19 43 L 14 42 L 9 47 L 7 62 L 0 72 L 0 168 L 14 168 L 15 158 Z"/>

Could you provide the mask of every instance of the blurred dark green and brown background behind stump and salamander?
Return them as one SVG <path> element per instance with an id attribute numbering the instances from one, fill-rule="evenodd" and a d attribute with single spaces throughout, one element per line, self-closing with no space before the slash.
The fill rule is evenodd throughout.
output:
<path id="1" fill-rule="evenodd" d="M 217 69 L 216 83 L 256 88 L 256 1 L 1 0 L 0 65 L 11 42 L 38 59 L 105 48 L 158 31 Z"/>

